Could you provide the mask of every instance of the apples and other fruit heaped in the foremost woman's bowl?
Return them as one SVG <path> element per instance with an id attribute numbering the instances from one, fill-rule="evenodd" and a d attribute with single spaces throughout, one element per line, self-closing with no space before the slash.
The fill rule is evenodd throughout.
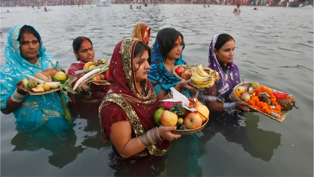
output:
<path id="1" fill-rule="evenodd" d="M 163 102 L 162 108 L 154 114 L 154 120 L 163 126 L 176 126 L 179 130 L 195 129 L 207 121 L 209 110 L 197 99 L 189 99 L 189 108 L 194 107 L 191 112 L 182 106 L 182 102 Z"/>

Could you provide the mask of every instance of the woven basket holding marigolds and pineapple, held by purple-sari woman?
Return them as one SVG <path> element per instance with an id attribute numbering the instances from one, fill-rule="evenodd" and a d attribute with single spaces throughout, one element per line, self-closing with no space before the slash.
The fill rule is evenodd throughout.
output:
<path id="1" fill-rule="evenodd" d="M 252 83 L 253 83 L 253 82 L 248 82 L 248 81 L 246 81 L 246 82 L 241 82 L 240 84 L 236 85 L 236 86 L 232 89 L 232 92 L 231 92 L 230 95 L 229 95 L 229 99 L 230 99 L 231 101 L 234 101 L 234 102 L 243 102 L 239 97 L 236 96 L 235 89 L 236 89 L 238 86 L 244 86 L 244 87 L 247 89 L 247 88 L 249 88 L 249 87 L 251 86 Z M 260 86 L 262 86 L 262 85 L 260 85 Z M 265 87 L 265 88 L 268 88 L 268 87 L 266 87 L 266 86 L 264 86 L 264 87 Z M 277 90 L 274 90 L 274 89 L 272 89 L 272 88 L 268 88 L 268 89 L 270 89 L 271 91 L 277 91 Z M 278 121 L 278 122 L 282 122 L 282 121 L 284 121 L 284 119 L 285 119 L 285 116 L 282 117 L 282 118 L 276 118 L 276 117 L 273 117 L 273 116 L 271 116 L 271 115 L 268 115 L 268 114 L 266 114 L 266 113 L 264 113 L 264 112 L 262 112 L 262 111 L 256 109 L 255 107 L 252 107 L 251 105 L 250 105 L 249 107 L 250 107 L 252 110 L 255 110 L 255 111 L 257 111 L 257 112 L 260 112 L 260 113 L 264 114 L 265 116 L 270 117 L 271 119 L 276 120 L 276 121 Z"/>

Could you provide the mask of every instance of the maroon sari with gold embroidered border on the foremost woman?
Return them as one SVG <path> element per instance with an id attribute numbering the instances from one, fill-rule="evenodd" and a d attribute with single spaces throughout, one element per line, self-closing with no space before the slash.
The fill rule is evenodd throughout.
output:
<path id="1" fill-rule="evenodd" d="M 160 108 L 157 95 L 148 79 L 141 81 L 144 94 L 135 83 L 133 54 L 135 45 L 139 40 L 124 39 L 113 51 L 109 65 L 108 82 L 111 91 L 108 92 L 99 107 L 99 118 L 103 140 L 109 141 L 111 125 L 115 122 L 128 120 L 133 129 L 132 137 L 141 136 L 154 128 L 154 112 Z M 147 148 L 152 155 L 163 155 L 170 146 L 170 142 L 162 140 Z M 147 153 L 146 151 L 146 154 Z"/>

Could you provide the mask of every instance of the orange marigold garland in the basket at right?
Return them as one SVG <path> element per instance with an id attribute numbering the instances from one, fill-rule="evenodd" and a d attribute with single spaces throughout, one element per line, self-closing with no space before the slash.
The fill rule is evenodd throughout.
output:
<path id="1" fill-rule="evenodd" d="M 258 92 L 266 92 L 269 96 L 270 96 L 270 101 L 272 102 L 271 104 L 277 107 L 277 110 L 273 110 L 267 103 L 265 102 L 261 102 L 258 99 L 258 96 L 252 96 L 250 101 L 247 102 L 249 105 L 251 105 L 252 107 L 255 107 L 256 109 L 270 115 L 270 112 L 274 112 L 277 114 L 281 114 L 281 107 L 280 105 L 276 102 L 276 96 L 273 95 L 273 92 L 268 89 L 265 88 L 264 86 L 260 86 L 257 87 L 256 89 L 254 89 L 254 91 L 252 92 L 253 95 L 257 95 Z"/>

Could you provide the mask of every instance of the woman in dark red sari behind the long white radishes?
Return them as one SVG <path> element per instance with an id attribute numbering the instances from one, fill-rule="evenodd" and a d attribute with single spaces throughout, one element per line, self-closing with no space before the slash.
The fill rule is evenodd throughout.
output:
<path id="1" fill-rule="evenodd" d="M 83 70 L 85 63 L 89 61 L 96 62 L 97 60 L 94 59 L 95 51 L 92 41 L 89 38 L 82 36 L 73 40 L 73 50 L 77 61 L 69 68 L 68 75 L 80 78 L 81 75 L 76 75 L 75 71 Z M 75 83 L 76 81 L 72 83 L 72 86 L 74 86 Z M 84 109 L 97 113 L 98 107 L 109 89 L 109 85 L 96 85 L 90 83 L 89 88 L 85 89 L 88 91 L 81 91 L 75 95 L 68 93 L 68 96 L 72 100 L 72 102 L 68 103 L 68 106 L 74 115 L 78 113 L 74 113 L 74 110 L 76 111 Z M 84 114 L 84 112 L 81 113 Z"/>

